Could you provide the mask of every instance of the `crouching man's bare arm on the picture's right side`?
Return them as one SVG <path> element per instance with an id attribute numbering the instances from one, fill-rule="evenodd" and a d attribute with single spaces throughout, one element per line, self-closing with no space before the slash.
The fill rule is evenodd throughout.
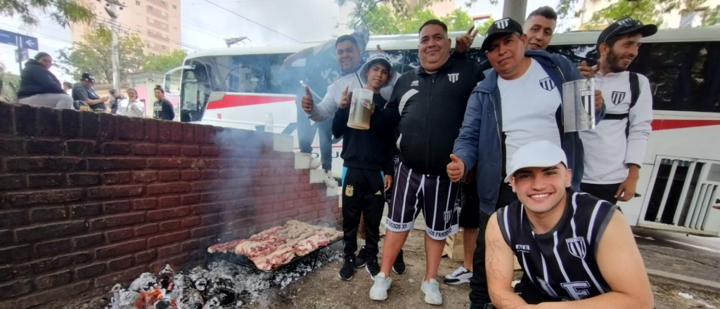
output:
<path id="1" fill-rule="evenodd" d="M 598 267 L 612 292 L 586 300 L 542 303 L 553 309 L 652 309 L 650 282 L 630 226 L 616 211 L 598 244 Z"/>

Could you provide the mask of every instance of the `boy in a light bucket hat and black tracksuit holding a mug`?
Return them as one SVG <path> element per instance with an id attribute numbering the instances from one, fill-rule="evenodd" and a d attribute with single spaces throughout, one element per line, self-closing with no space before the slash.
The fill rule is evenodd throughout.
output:
<path id="1" fill-rule="evenodd" d="M 345 263 L 338 275 L 341 280 L 351 280 L 355 272 L 361 215 L 364 217 L 366 232 L 365 269 L 371 277 L 380 271 L 377 264 L 380 220 L 385 206 L 384 192 L 392 187 L 394 173 L 390 161 L 391 145 L 388 142 L 388 136 L 392 136 L 388 126 L 392 118 L 384 111 L 387 101 L 380 95 L 380 89 L 390 86 L 390 80 L 395 80 L 395 75 L 389 58 L 383 54 L 371 57 L 360 70 L 365 89 L 373 93 L 372 106 L 369 106 L 369 129 L 348 127 L 352 108 L 349 86 L 343 91 L 339 109 L 333 118 L 333 136 L 343 138 L 341 157 L 344 165 L 342 198 Z"/>

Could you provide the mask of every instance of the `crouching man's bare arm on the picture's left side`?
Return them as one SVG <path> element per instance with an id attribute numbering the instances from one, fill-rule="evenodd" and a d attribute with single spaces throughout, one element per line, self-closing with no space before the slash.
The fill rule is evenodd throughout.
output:
<path id="1" fill-rule="evenodd" d="M 514 261 L 513 250 L 500 233 L 498 213 L 493 213 L 485 229 L 485 275 L 487 292 L 495 308 L 519 309 L 528 306 L 510 286 L 513 281 Z"/>

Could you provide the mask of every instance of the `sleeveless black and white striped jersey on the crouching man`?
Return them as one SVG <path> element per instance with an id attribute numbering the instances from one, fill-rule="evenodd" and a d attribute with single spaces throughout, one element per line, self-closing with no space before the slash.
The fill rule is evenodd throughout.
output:
<path id="1" fill-rule="evenodd" d="M 581 300 L 610 292 L 595 257 L 616 208 L 593 195 L 567 189 L 565 211 L 552 231 L 536 234 L 519 201 L 500 208 L 498 224 L 539 290 L 558 300 Z"/>

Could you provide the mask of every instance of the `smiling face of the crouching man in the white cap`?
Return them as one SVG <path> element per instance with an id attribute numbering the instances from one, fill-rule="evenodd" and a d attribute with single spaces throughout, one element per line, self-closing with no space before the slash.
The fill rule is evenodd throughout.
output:
<path id="1" fill-rule="evenodd" d="M 552 167 L 521 168 L 510 178 L 518 200 L 533 213 L 548 213 L 562 206 L 565 188 L 570 187 L 572 171 L 564 164 Z"/>

